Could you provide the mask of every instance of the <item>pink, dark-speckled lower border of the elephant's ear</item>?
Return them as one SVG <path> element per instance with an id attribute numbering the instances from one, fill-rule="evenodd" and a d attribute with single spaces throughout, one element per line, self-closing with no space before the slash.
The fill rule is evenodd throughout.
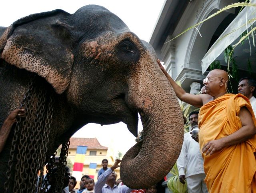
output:
<path id="1" fill-rule="evenodd" d="M 7 40 L 1 58 L 18 68 L 35 72 L 44 77 L 58 94 L 66 89 L 67 80 L 53 66 L 47 64 L 42 57 L 35 57 L 32 50 L 16 46 L 12 39 Z"/>

